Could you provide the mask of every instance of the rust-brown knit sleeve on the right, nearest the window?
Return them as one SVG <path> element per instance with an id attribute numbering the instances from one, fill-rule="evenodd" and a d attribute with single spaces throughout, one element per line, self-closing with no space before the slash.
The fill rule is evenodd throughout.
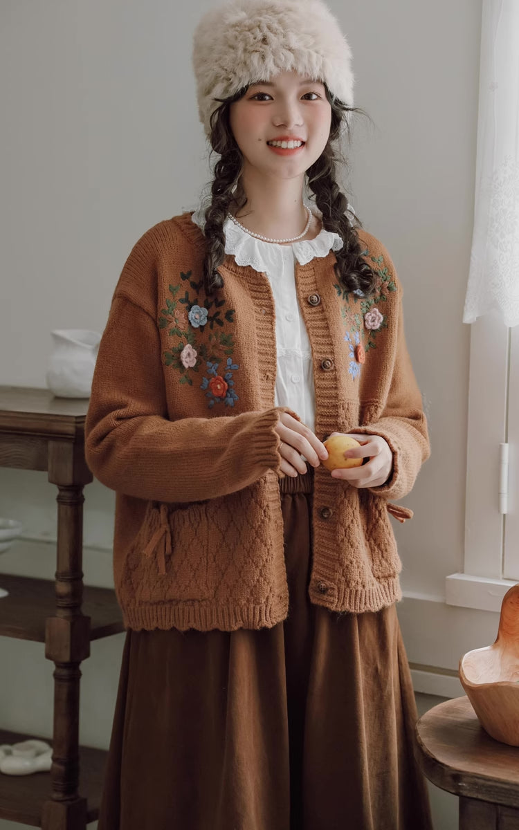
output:
<path id="1" fill-rule="evenodd" d="M 387 251 L 384 259 L 389 261 L 394 273 Z M 394 300 L 395 334 L 389 391 L 379 418 L 364 427 L 355 428 L 355 432 L 360 434 L 379 435 L 389 444 L 393 453 L 392 473 L 383 485 L 368 488 L 388 500 L 408 495 L 413 489 L 420 467 L 430 454 L 422 395 L 405 342 L 403 290 L 396 275 L 394 281 L 397 292 Z"/>

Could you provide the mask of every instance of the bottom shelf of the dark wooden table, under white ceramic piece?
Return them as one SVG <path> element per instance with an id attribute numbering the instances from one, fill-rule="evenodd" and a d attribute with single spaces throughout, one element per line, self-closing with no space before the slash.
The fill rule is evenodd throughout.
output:
<path id="1" fill-rule="evenodd" d="M 0 744 L 17 744 L 34 735 L 0 730 Z M 52 741 L 47 738 L 47 744 Z M 105 771 L 106 752 L 103 749 L 80 747 L 79 793 L 87 799 L 87 822 L 95 822 L 99 816 L 100 793 Z M 0 818 L 8 821 L 42 826 L 42 806 L 51 793 L 51 774 L 4 775 L 0 773 Z"/>

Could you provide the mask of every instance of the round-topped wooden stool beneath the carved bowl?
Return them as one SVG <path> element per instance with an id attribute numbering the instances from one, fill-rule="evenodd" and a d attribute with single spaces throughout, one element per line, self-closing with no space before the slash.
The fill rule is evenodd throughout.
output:
<path id="1" fill-rule="evenodd" d="M 459 830 L 519 830 L 519 747 L 487 735 L 468 697 L 419 719 L 414 753 L 429 781 L 459 796 Z"/>

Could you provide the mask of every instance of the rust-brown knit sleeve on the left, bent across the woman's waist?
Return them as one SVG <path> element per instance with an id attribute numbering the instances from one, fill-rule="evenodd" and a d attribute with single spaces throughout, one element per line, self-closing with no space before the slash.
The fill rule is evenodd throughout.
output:
<path id="1" fill-rule="evenodd" d="M 280 408 L 170 421 L 158 327 L 115 294 L 86 417 L 86 461 L 127 496 L 197 501 L 225 496 L 279 470 Z"/>

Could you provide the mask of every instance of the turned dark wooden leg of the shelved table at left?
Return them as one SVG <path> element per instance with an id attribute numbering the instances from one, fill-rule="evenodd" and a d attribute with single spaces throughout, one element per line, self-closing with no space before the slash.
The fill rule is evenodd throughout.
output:
<path id="1" fill-rule="evenodd" d="M 58 486 L 56 616 L 47 618 L 45 656 L 54 671 L 52 792 L 43 805 L 43 830 L 85 830 L 86 798 L 79 786 L 81 661 L 90 656 L 90 618 L 81 613 L 83 595 L 83 483 L 91 474 L 75 464 L 74 445 L 49 452 L 49 481 Z M 51 461 L 55 463 L 52 466 Z"/>

